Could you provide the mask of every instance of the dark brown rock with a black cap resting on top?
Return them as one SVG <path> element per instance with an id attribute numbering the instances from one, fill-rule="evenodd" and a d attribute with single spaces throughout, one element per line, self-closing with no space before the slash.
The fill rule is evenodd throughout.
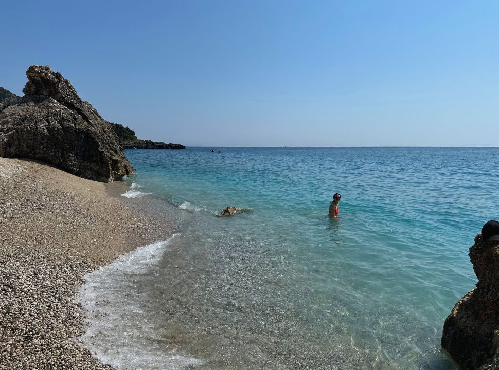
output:
<path id="1" fill-rule="evenodd" d="M 441 344 L 461 369 L 499 368 L 499 242 L 477 235 L 470 260 L 476 288 L 445 319 Z"/>

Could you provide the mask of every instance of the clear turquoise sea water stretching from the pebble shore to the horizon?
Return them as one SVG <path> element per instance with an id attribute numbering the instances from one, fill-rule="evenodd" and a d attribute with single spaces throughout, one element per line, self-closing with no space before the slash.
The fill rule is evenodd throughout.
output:
<path id="1" fill-rule="evenodd" d="M 118 368 L 452 368 L 441 328 L 499 218 L 499 149 L 219 149 L 126 151 L 128 194 L 181 226 L 88 278 L 83 302 L 104 294 L 109 314 L 94 352 Z"/>

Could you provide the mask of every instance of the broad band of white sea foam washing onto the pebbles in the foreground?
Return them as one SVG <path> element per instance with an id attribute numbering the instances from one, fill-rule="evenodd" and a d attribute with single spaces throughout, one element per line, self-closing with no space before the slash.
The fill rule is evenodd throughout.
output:
<path id="1" fill-rule="evenodd" d="M 178 350 L 161 347 L 154 318 L 141 308 L 147 297 L 135 284 L 157 270 L 157 262 L 175 236 L 124 254 L 85 275 L 77 302 L 86 313 L 86 331 L 77 340 L 102 363 L 118 370 L 173 370 L 202 364 Z"/>

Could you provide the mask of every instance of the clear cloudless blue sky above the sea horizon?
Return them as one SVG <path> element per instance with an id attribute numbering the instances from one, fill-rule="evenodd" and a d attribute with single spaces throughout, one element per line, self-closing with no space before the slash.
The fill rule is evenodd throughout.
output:
<path id="1" fill-rule="evenodd" d="M 140 138 L 499 146 L 499 2 L 9 1 L 0 86 L 50 65 Z"/>

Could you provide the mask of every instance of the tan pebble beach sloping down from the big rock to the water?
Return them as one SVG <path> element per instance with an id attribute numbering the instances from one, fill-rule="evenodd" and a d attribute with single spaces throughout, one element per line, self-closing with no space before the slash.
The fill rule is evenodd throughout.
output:
<path id="1" fill-rule="evenodd" d="M 173 234 L 127 189 L 0 158 L 0 369 L 112 368 L 75 340 L 83 276 Z"/>

